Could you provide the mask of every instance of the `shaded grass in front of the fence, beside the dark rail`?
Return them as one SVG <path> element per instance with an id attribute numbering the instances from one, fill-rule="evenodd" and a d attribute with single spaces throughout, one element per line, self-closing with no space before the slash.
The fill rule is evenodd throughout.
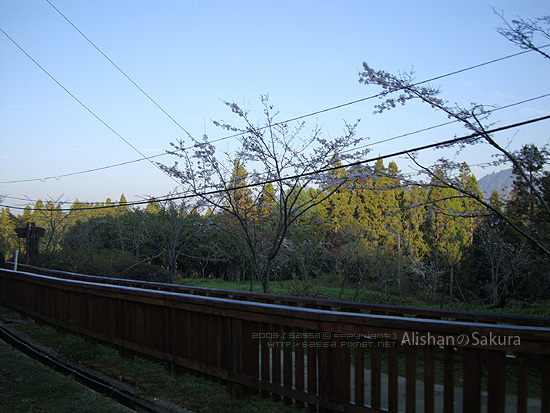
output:
<path id="1" fill-rule="evenodd" d="M 21 316 L 0 307 L 0 318 Z M 36 343 L 48 347 L 67 363 L 102 372 L 114 381 L 130 386 L 141 397 L 196 412 L 292 412 L 295 409 L 262 399 L 232 397 L 226 387 L 190 374 L 174 374 L 162 364 L 139 357 L 126 358 L 117 350 L 90 343 L 33 322 L 17 329 Z M 81 386 L 34 360 L 0 347 L 0 412 L 119 412 L 122 406 L 86 391 Z M 23 361 L 20 361 L 23 360 Z M 28 366 L 28 367 L 27 367 Z M 127 411 L 127 410 L 126 410 Z M 170 409 L 167 409 L 170 411 Z"/>

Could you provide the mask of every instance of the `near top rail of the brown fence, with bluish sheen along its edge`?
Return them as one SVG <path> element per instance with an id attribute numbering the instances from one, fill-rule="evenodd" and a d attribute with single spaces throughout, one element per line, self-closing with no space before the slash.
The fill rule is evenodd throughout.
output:
<path id="1" fill-rule="evenodd" d="M 4 270 L 5 271 L 5 270 Z M 81 294 L 131 300 L 216 316 L 310 328 L 335 334 L 382 338 L 406 345 L 454 346 L 550 354 L 550 328 L 333 312 L 189 294 L 121 287 L 26 273 L 5 274 L 32 283 Z M 334 336 L 333 336 L 334 337 Z M 330 345 L 335 345 L 332 341 Z"/>

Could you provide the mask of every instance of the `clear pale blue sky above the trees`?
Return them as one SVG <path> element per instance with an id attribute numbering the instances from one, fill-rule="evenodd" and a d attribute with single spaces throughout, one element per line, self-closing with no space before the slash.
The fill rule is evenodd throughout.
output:
<path id="1" fill-rule="evenodd" d="M 550 14 L 550 0 L 50 0 L 185 131 L 223 137 L 212 119 L 237 121 L 222 101 L 243 104 L 261 120 L 269 94 L 279 120 L 379 92 L 358 82 L 366 61 L 417 80 L 520 50 L 496 32 L 509 18 Z M 128 201 L 162 196 L 176 183 L 148 161 L 78 173 L 162 154 L 186 133 L 148 100 L 46 0 L 0 0 L 0 28 L 85 105 L 86 110 L 0 32 L 0 197 Z M 535 53 L 441 79 L 451 103 L 506 106 L 550 93 L 550 61 Z M 315 115 L 336 136 L 361 118 L 370 143 L 447 119 L 420 103 L 372 115 L 376 100 Z M 550 114 L 550 97 L 496 112 L 497 126 Z M 100 120 L 99 120 L 99 119 Z M 238 122 L 237 122 L 238 123 Z M 107 125 L 107 126 L 106 126 Z M 384 155 L 465 134 L 456 125 L 372 146 Z M 549 143 L 550 121 L 496 134 L 510 149 Z M 126 140 L 128 143 L 126 143 Z M 223 141 L 231 149 L 234 141 Z M 492 160 L 485 146 L 466 150 L 471 165 Z M 428 151 L 426 162 L 453 152 Z M 155 158 L 166 164 L 168 156 Z M 455 158 L 456 160 L 456 158 Z M 410 161 L 397 159 L 406 170 Z M 478 178 L 491 169 L 472 168 Z M 15 182 L 14 182 L 15 181 Z M 22 200 L 23 199 L 23 200 Z M 17 210 L 12 210 L 17 213 Z"/>

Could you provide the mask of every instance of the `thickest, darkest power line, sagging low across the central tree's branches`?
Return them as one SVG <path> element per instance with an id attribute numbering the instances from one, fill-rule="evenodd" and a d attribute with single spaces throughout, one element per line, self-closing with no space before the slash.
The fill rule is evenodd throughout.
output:
<path id="1" fill-rule="evenodd" d="M 383 159 L 387 159 L 387 158 L 394 158 L 394 157 L 405 155 L 405 154 L 408 154 L 408 153 L 420 152 L 420 151 L 424 151 L 424 150 L 427 150 L 427 149 L 437 148 L 437 147 L 440 147 L 440 146 L 454 145 L 454 144 L 459 143 L 459 142 L 467 141 L 467 140 L 470 140 L 470 139 L 473 139 L 473 138 L 478 138 L 478 137 L 480 137 L 482 135 L 485 135 L 485 134 L 502 132 L 502 131 L 505 131 L 505 130 L 508 130 L 508 129 L 518 128 L 518 127 L 521 127 L 521 126 L 541 122 L 541 121 L 548 120 L 548 119 L 550 119 L 550 115 L 542 116 L 542 117 L 538 117 L 538 118 L 534 118 L 534 119 L 529 119 L 529 120 L 526 120 L 526 121 L 523 121 L 523 122 L 511 124 L 511 125 L 502 126 L 500 128 L 494 128 L 494 129 L 487 130 L 487 131 L 472 133 L 472 134 L 462 136 L 462 137 L 459 137 L 459 138 L 448 139 L 446 141 L 441 141 L 441 142 L 434 142 L 434 143 L 431 143 L 431 144 L 428 144 L 428 145 L 422 145 L 422 146 L 418 146 L 418 147 L 415 147 L 415 148 L 412 148 L 412 149 L 405 149 L 405 150 L 402 150 L 402 151 L 393 152 L 393 153 L 386 154 L 386 155 L 380 155 L 380 156 L 376 156 L 376 157 L 369 158 L 369 159 L 364 159 L 364 160 L 357 161 L 357 162 L 350 162 L 350 163 L 345 164 L 345 165 L 327 167 L 327 168 L 317 169 L 317 170 L 310 171 L 310 172 L 303 172 L 301 174 L 285 176 L 285 177 L 282 177 L 282 178 L 270 179 L 270 180 L 265 180 L 265 181 L 262 181 L 262 182 L 256 182 L 256 183 L 253 183 L 253 184 L 241 185 L 241 186 L 237 186 L 235 188 L 232 188 L 232 190 L 236 191 L 236 190 L 240 190 L 240 189 L 248 189 L 248 188 L 253 188 L 253 187 L 257 187 L 257 186 L 265 186 L 267 184 L 273 184 L 273 183 L 283 182 L 283 181 L 288 181 L 288 180 L 295 180 L 295 179 L 299 179 L 299 178 L 303 178 L 303 177 L 307 177 L 307 176 L 313 176 L 313 175 L 318 175 L 318 174 L 321 174 L 321 173 L 336 171 L 336 170 L 339 170 L 339 169 L 359 167 L 359 166 L 367 164 L 369 162 L 375 162 L 375 161 L 383 160 Z M 226 191 L 227 191 L 227 189 L 225 189 L 225 188 L 224 189 L 213 189 L 211 191 L 206 191 L 206 192 L 203 192 L 203 193 L 190 193 L 190 194 L 183 194 L 183 195 L 177 195 L 177 196 L 155 198 L 155 200 L 157 202 L 176 201 L 176 200 L 182 200 L 182 199 L 196 198 L 196 197 L 200 197 L 200 196 L 215 195 L 215 194 L 219 194 L 219 193 L 226 192 Z M 117 207 L 145 205 L 145 204 L 148 204 L 149 202 L 151 202 L 151 198 L 147 201 L 128 202 L 128 203 L 125 203 L 125 204 L 90 206 L 90 207 L 81 207 L 81 208 L 55 208 L 55 209 L 41 208 L 40 211 L 46 211 L 46 212 L 71 211 L 71 210 L 73 210 L 73 211 L 88 211 L 88 210 L 95 210 L 95 209 L 110 209 L 110 208 L 117 208 Z M 18 209 L 18 210 L 25 209 L 24 207 L 15 207 L 15 206 L 9 206 L 9 205 L 0 205 L 0 207 L 13 208 L 13 209 Z"/>

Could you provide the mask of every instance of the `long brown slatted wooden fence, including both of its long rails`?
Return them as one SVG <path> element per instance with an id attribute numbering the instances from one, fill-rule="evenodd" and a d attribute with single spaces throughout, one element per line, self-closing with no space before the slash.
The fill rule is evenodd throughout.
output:
<path id="1" fill-rule="evenodd" d="M 26 269 L 49 275 L 0 270 L 1 303 L 233 391 L 312 411 L 550 412 L 548 319 Z"/>

